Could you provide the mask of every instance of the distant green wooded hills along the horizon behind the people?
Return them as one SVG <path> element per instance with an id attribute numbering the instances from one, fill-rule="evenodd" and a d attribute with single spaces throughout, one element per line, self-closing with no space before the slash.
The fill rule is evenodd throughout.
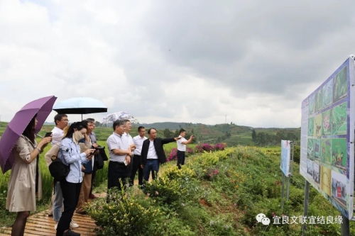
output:
<path id="1" fill-rule="evenodd" d="M 0 135 L 4 133 L 7 123 L 0 122 Z M 138 135 L 137 127 L 139 125 L 148 128 L 156 128 L 158 137 L 173 137 L 178 135 L 178 130 L 184 128 L 187 131 L 187 137 L 191 134 L 195 135 L 195 143 L 198 142 L 225 142 L 229 147 L 236 145 L 258 145 L 270 146 L 278 145 L 281 139 L 300 140 L 300 128 L 252 128 L 249 126 L 241 126 L 231 124 L 204 125 L 192 123 L 152 123 L 133 125 L 131 135 Z M 165 127 L 165 128 L 164 128 Z M 166 128 L 169 127 L 169 128 Z M 172 128 L 173 127 L 173 128 Z M 175 127 L 175 128 L 174 128 Z M 53 129 L 53 125 L 43 125 L 40 135 Z M 166 131 L 168 130 L 168 132 Z M 256 139 L 252 139 L 252 132 L 255 130 Z M 98 140 L 106 141 L 107 137 L 113 132 L 111 125 L 100 127 L 97 125 L 94 132 L 97 134 Z M 148 135 L 148 134 L 147 134 Z"/>

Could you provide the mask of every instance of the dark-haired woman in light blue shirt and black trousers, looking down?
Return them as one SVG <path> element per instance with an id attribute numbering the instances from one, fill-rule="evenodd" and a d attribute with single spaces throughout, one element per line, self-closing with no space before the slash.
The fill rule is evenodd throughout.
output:
<path id="1" fill-rule="evenodd" d="M 87 142 L 89 137 L 87 136 L 87 123 L 76 122 L 70 125 L 67 134 L 62 138 L 60 143 L 61 148 L 58 152 L 58 158 L 62 162 L 69 166 L 69 174 L 60 181 L 60 188 L 62 189 L 62 197 L 64 199 L 64 211 L 60 217 L 57 236 L 62 235 L 80 235 L 77 232 L 70 230 L 70 221 L 72 220 L 72 215 L 74 214 L 75 208 L 77 206 L 77 201 L 80 196 L 80 189 L 82 185 L 82 163 L 86 163 L 92 158 L 94 154 L 94 149 L 87 149 L 81 152 L 81 147 L 79 140 L 85 138 Z M 91 142 L 89 143 L 91 147 Z"/>

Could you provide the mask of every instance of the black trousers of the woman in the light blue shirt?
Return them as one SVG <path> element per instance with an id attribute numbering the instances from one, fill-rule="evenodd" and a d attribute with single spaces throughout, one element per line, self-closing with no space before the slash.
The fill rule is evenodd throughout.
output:
<path id="1" fill-rule="evenodd" d="M 70 222 L 72 221 L 72 215 L 74 215 L 75 208 L 77 207 L 77 201 L 80 196 L 80 189 L 82 183 L 70 183 L 67 180 L 60 181 L 60 188 L 62 189 L 64 211 L 60 217 L 57 236 L 62 236 L 65 230 L 69 230 Z"/>

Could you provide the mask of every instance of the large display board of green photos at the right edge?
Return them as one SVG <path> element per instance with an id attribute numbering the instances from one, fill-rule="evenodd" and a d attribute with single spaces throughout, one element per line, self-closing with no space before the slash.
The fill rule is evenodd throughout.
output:
<path id="1" fill-rule="evenodd" d="M 346 218 L 354 209 L 354 60 L 302 101 L 300 174 Z"/>

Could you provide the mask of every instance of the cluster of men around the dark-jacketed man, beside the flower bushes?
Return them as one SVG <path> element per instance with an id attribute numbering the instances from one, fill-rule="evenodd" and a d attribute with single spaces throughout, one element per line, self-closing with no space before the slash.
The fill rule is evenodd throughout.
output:
<path id="1" fill-rule="evenodd" d="M 144 183 L 155 179 L 160 164 L 166 162 L 163 145 L 169 142 L 178 143 L 178 168 L 185 164 L 186 145 L 191 143 L 194 135 L 189 140 L 185 139 L 186 131 L 180 130 L 179 137 L 160 138 L 157 137 L 155 128 L 148 129 L 138 127 L 138 135 L 131 137 L 131 122 L 129 120 L 116 120 L 112 125 L 114 132 L 107 139 L 109 148 L 109 171 L 107 178 L 107 191 L 112 188 L 121 190 L 122 187 L 133 186 L 136 172 L 138 172 L 138 186 L 144 187 Z M 126 180 L 129 183 L 126 183 Z M 109 198 L 107 198 L 109 199 Z"/>

